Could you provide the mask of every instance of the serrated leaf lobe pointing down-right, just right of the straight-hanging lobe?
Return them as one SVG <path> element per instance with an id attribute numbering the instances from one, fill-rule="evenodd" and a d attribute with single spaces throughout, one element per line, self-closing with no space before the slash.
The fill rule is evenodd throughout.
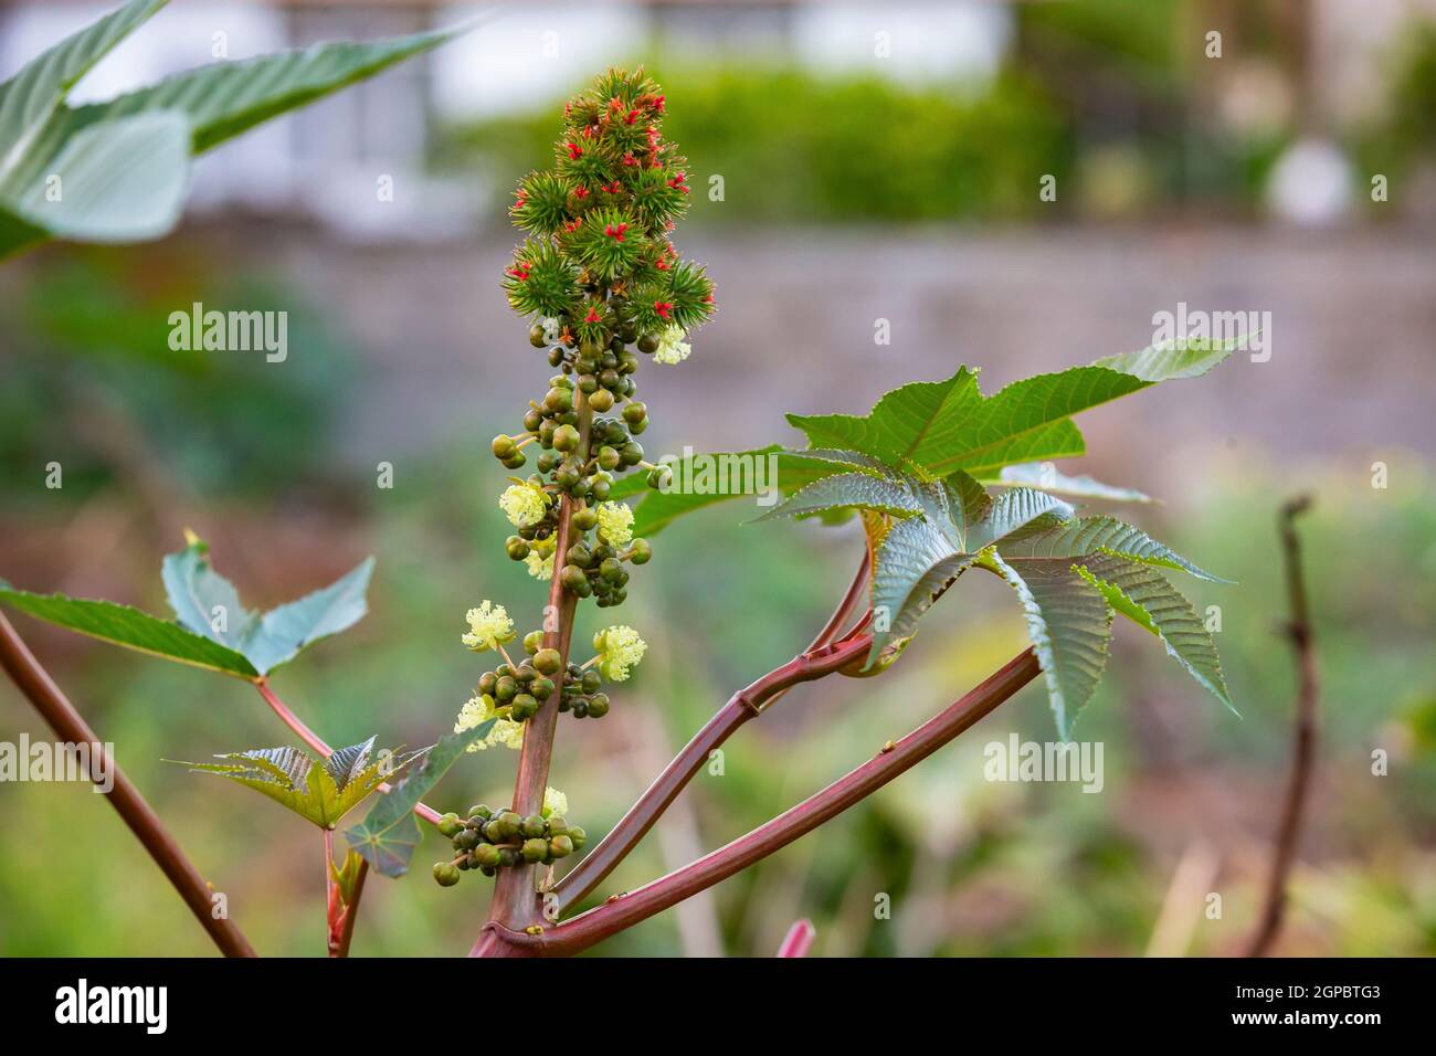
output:
<path id="1" fill-rule="evenodd" d="M 1160 638 L 1167 654 L 1202 688 L 1236 714 L 1222 678 L 1216 642 L 1192 603 L 1166 576 L 1146 565 L 1110 555 L 1094 555 L 1076 568 L 1101 590 L 1113 609 Z"/>

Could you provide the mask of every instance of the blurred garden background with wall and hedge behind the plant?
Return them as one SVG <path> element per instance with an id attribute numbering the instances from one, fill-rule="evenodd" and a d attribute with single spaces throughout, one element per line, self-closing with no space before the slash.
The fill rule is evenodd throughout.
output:
<path id="1" fill-rule="evenodd" d="M 0 76 L 103 7 L 4 4 Z M 373 553 L 370 615 L 276 688 L 335 744 L 445 733 L 482 670 L 458 644 L 464 611 L 491 598 L 526 624 L 543 603 L 504 559 L 488 454 L 550 374 L 500 292 L 504 208 L 547 164 L 563 98 L 643 63 L 692 161 L 678 244 L 709 266 L 719 303 L 688 362 L 640 376 L 651 457 L 793 443 L 785 411 L 863 411 L 959 363 L 992 392 L 1142 348 L 1153 313 L 1179 303 L 1271 312 L 1272 355 L 1083 415 L 1088 457 L 1058 467 L 1160 496 L 1113 511 L 1239 582 L 1182 588 L 1221 609 L 1241 720 L 1117 628 L 1077 733 L 1106 746 L 1101 795 L 984 780 L 988 741 L 1055 736 L 1028 687 L 605 951 L 770 955 L 806 915 L 821 955 L 1239 953 L 1291 737 L 1275 513 L 1297 491 L 1317 499 L 1301 532 L 1323 733 L 1278 953 L 1436 951 L 1436 0 L 180 0 L 78 96 L 474 14 L 439 52 L 202 158 L 164 241 L 0 269 L 0 576 L 165 612 L 159 559 L 188 526 L 269 606 Z M 287 310 L 287 359 L 172 352 L 168 315 L 192 302 Z M 890 343 L 875 343 L 879 320 Z M 59 490 L 45 486 L 55 461 Z M 679 523 L 635 575 L 620 619 L 649 657 L 607 718 L 560 726 L 553 783 L 590 833 L 731 691 L 806 645 L 846 586 L 852 526 L 740 524 L 751 516 Z M 258 698 L 16 624 L 257 948 L 322 954 L 316 833 L 161 761 L 287 743 Z M 577 639 L 597 625 L 587 611 Z M 791 806 L 1024 642 L 1005 588 L 965 578 L 892 674 L 800 688 L 745 727 L 722 776 L 699 774 L 600 892 Z M 22 733 L 50 738 L 6 682 L 0 740 Z M 507 802 L 516 760 L 467 757 L 431 802 Z M 0 786 L 0 953 L 211 953 L 88 787 Z M 409 876 L 369 882 L 356 955 L 467 951 L 487 888 L 438 889 L 439 853 L 429 836 Z"/>

